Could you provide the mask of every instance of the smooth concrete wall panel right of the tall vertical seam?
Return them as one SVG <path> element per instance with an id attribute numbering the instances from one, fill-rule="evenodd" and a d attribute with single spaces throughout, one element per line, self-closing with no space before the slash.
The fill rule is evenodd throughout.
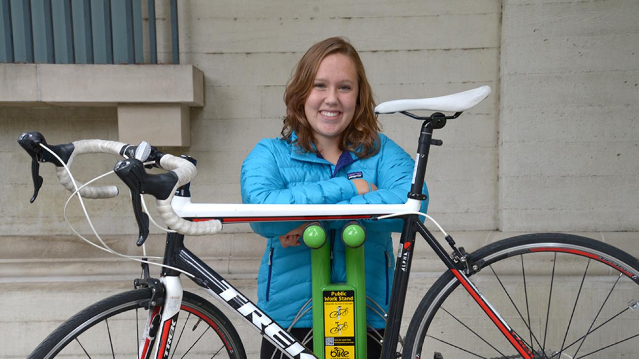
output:
<path id="1" fill-rule="evenodd" d="M 639 3 L 505 1 L 504 231 L 639 230 Z"/>

